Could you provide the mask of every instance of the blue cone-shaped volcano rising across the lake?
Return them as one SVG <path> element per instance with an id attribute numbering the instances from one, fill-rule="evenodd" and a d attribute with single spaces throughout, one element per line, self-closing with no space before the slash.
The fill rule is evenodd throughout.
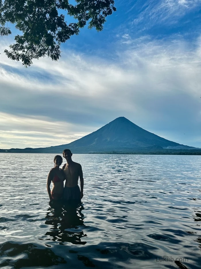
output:
<path id="1" fill-rule="evenodd" d="M 7 150 L 7 152 L 62 153 L 65 148 L 71 149 L 72 153 L 196 149 L 195 147 L 181 145 L 159 137 L 156 134 L 140 128 L 125 117 L 119 117 L 97 131 L 69 144 L 36 149 L 10 149 Z"/>

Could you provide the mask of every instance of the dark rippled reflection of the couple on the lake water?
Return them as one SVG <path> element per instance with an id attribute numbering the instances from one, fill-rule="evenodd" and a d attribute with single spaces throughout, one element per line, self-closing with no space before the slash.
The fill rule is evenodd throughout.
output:
<path id="1" fill-rule="evenodd" d="M 78 227 L 84 226 L 83 209 L 82 203 L 68 202 L 62 204 L 58 201 L 51 203 L 45 217 L 47 219 L 45 224 L 53 227 L 41 239 L 53 240 L 63 244 L 70 242 L 75 245 L 85 245 L 86 241 L 83 241 L 82 237 L 87 235 L 83 231 L 72 231 L 73 228 L 76 230 Z"/>

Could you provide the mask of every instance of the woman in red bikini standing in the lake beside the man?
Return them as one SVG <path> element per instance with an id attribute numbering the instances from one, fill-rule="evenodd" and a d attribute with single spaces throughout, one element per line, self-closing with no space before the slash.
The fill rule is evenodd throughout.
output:
<path id="1" fill-rule="evenodd" d="M 56 155 L 54 158 L 55 167 L 49 171 L 47 177 L 47 192 L 49 194 L 50 201 L 59 200 L 63 195 L 63 181 L 65 180 L 65 174 L 59 166 L 62 164 L 63 159 L 60 155 Z M 53 183 L 52 190 L 50 190 L 51 181 Z"/>

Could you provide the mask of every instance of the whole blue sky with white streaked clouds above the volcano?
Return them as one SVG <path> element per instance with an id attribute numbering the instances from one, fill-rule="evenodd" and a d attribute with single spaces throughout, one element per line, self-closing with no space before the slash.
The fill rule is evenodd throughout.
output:
<path id="1" fill-rule="evenodd" d="M 0 38 L 0 148 L 67 144 L 125 117 L 201 148 L 201 0 L 116 0 L 102 32 L 25 68 Z"/>

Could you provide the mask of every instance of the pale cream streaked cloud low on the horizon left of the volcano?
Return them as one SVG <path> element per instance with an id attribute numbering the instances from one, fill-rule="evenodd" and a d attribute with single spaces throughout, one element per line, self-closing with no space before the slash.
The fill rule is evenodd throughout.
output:
<path id="1" fill-rule="evenodd" d="M 92 131 L 82 132 L 81 125 L 53 122 L 49 118 L 23 117 L 0 113 L 0 148 L 48 147 L 79 139 Z"/>

